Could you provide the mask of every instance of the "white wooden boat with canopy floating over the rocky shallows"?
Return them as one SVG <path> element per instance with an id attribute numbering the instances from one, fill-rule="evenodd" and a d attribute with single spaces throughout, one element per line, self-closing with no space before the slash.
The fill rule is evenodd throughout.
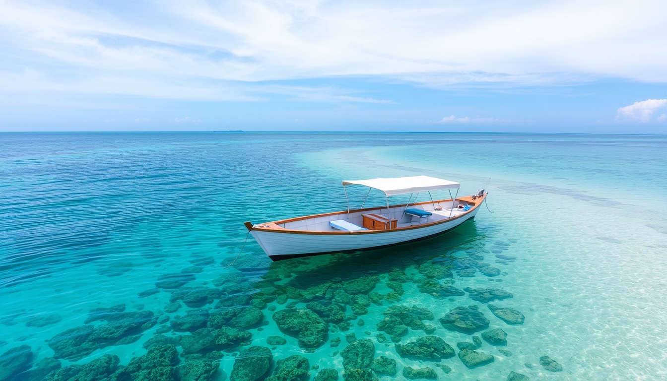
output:
<path id="1" fill-rule="evenodd" d="M 347 188 L 368 187 L 360 209 L 350 209 Z M 248 234 L 273 261 L 320 254 L 375 250 L 426 240 L 449 232 L 475 218 L 486 199 L 484 189 L 457 198 L 460 183 L 425 175 L 343 181 L 348 210 L 288 218 L 262 224 L 245 222 Z M 364 208 L 372 189 L 384 192 L 386 206 Z M 450 198 L 426 202 L 420 193 L 446 190 Z M 452 196 L 452 190 L 456 195 Z M 389 198 L 410 194 L 406 204 L 390 205 Z"/>

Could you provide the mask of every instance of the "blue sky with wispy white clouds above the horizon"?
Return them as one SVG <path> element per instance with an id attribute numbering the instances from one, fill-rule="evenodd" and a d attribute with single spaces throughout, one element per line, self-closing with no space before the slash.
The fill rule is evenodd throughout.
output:
<path id="1" fill-rule="evenodd" d="M 667 134 L 667 1 L 0 0 L 0 131 Z"/>

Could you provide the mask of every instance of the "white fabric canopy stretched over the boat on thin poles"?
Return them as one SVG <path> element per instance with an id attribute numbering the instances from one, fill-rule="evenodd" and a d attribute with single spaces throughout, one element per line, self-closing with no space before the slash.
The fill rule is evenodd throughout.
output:
<path id="1" fill-rule="evenodd" d="M 396 196 L 398 194 L 409 194 L 417 192 L 427 192 L 436 189 L 458 189 L 461 185 L 454 181 L 438 179 L 430 176 L 412 176 L 396 177 L 394 179 L 368 179 L 368 180 L 346 180 L 345 185 L 366 185 L 375 189 L 380 189 L 386 196 Z"/>

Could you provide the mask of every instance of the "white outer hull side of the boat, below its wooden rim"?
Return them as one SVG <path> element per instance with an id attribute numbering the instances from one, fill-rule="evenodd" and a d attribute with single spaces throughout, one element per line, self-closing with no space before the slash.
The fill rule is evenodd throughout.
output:
<path id="1" fill-rule="evenodd" d="M 326 253 L 370 250 L 424 240 L 443 234 L 474 218 L 480 204 L 458 218 L 451 218 L 438 224 L 425 224 L 410 229 L 375 231 L 372 234 L 317 234 L 317 232 L 263 229 L 251 229 L 250 233 L 274 261 Z"/>

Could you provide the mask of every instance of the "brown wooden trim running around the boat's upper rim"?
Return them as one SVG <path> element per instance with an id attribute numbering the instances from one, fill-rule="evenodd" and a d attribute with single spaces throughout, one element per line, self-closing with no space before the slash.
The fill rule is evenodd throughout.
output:
<path id="1" fill-rule="evenodd" d="M 462 214 L 459 214 L 456 217 L 452 218 L 447 218 L 446 220 L 440 220 L 440 221 L 434 221 L 434 222 L 427 222 L 426 224 L 420 224 L 420 225 L 415 225 L 415 226 L 406 226 L 404 228 L 396 228 L 396 229 L 391 229 L 391 230 L 362 230 L 362 231 L 357 231 L 357 232 L 340 232 L 340 231 L 331 231 L 331 232 L 316 232 L 312 230 L 294 230 L 294 229 L 287 229 L 287 228 L 281 228 L 278 225 L 279 224 L 285 224 L 287 222 L 295 222 L 299 220 L 307 220 L 309 218 L 316 218 L 316 217 L 324 217 L 324 216 L 333 216 L 334 214 L 344 214 L 346 213 L 345 211 L 343 212 L 331 212 L 331 213 L 323 213 L 323 214 L 313 214 L 311 216 L 301 216 L 301 217 L 295 217 L 295 218 L 288 218 L 286 220 L 278 220 L 278 221 L 273 221 L 273 222 L 267 222 L 265 224 L 258 224 L 261 226 L 271 226 L 270 228 L 263 228 L 260 226 L 253 226 L 250 222 L 245 222 L 245 227 L 247 228 L 248 231 L 251 230 L 256 230 L 257 232 L 273 232 L 273 233 L 284 233 L 284 234 L 310 234 L 313 236 L 356 236 L 359 234 L 381 234 L 381 233 L 389 233 L 389 232 L 400 232 L 404 230 L 413 230 L 413 229 L 420 229 L 420 228 L 425 228 L 426 226 L 436 226 L 439 224 L 444 224 L 445 222 L 450 222 L 454 220 L 458 220 L 459 218 L 468 216 L 472 211 L 476 210 L 482 205 L 482 202 L 484 202 L 484 199 L 486 199 L 486 194 L 479 196 L 476 198 L 476 200 L 472 200 L 472 196 L 466 196 L 462 198 L 457 198 L 455 199 L 456 201 L 459 202 L 466 202 L 467 204 L 474 204 L 470 210 L 467 212 L 464 212 Z M 447 200 L 437 200 L 437 201 L 427 201 L 427 202 L 418 202 L 416 204 L 410 204 L 410 205 L 422 205 L 422 204 L 437 204 L 439 202 L 451 202 L 452 199 L 447 199 Z M 396 208 L 400 207 L 400 205 L 394 205 L 390 206 L 390 208 Z M 356 209 L 356 210 L 350 210 L 350 213 L 354 212 L 366 212 L 369 210 L 378 210 L 378 207 L 374 208 L 364 208 L 364 209 Z"/>

